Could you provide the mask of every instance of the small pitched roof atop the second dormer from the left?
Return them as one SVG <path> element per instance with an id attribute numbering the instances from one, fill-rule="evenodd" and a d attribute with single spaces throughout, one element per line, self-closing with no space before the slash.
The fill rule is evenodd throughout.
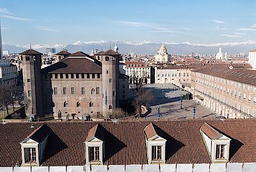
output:
<path id="1" fill-rule="evenodd" d="M 97 124 L 94 127 L 92 127 L 92 129 L 90 129 L 85 141 L 92 140 L 92 138 L 97 138 L 101 141 L 104 141 L 104 139 L 105 139 L 104 127 L 102 127 L 100 124 Z"/>

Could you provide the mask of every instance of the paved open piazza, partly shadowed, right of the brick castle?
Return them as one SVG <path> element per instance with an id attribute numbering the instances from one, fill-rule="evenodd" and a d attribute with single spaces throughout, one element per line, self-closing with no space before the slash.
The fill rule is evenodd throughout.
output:
<path id="1" fill-rule="evenodd" d="M 160 108 L 161 119 L 191 119 L 193 106 L 196 107 L 195 118 L 218 118 L 213 111 L 196 103 L 195 100 L 183 100 L 180 109 L 180 96 L 188 94 L 186 90 L 179 89 L 173 84 L 150 84 L 146 86 L 154 94 L 154 101 L 149 104 L 151 112 L 144 117 L 147 120 L 157 120 L 157 108 Z"/>

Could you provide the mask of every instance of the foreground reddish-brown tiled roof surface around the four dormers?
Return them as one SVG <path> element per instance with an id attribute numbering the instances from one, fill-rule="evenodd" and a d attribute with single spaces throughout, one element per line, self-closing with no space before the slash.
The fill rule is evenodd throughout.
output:
<path id="1" fill-rule="evenodd" d="M 0 124 L 0 166 L 21 162 L 20 142 L 46 124 L 51 133 L 42 166 L 82 166 L 88 133 L 105 129 L 103 164 L 148 164 L 145 127 L 152 123 L 166 139 L 167 164 L 211 163 L 200 128 L 205 122 L 231 138 L 230 162 L 256 162 L 256 119 L 159 120 L 120 122 L 26 122 Z M 31 128 L 31 124 L 35 125 Z"/>

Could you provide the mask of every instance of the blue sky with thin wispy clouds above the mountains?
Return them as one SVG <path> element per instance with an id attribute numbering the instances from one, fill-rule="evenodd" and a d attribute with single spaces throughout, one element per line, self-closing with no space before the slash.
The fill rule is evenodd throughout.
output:
<path id="1" fill-rule="evenodd" d="M 0 0 L 3 42 L 256 40 L 256 1 Z"/>

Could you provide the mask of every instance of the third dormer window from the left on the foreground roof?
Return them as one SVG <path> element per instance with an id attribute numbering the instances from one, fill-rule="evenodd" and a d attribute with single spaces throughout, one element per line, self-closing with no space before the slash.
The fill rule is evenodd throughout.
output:
<path id="1" fill-rule="evenodd" d="M 166 140 L 163 133 L 154 124 L 150 123 L 145 127 L 148 164 L 165 163 Z"/>

